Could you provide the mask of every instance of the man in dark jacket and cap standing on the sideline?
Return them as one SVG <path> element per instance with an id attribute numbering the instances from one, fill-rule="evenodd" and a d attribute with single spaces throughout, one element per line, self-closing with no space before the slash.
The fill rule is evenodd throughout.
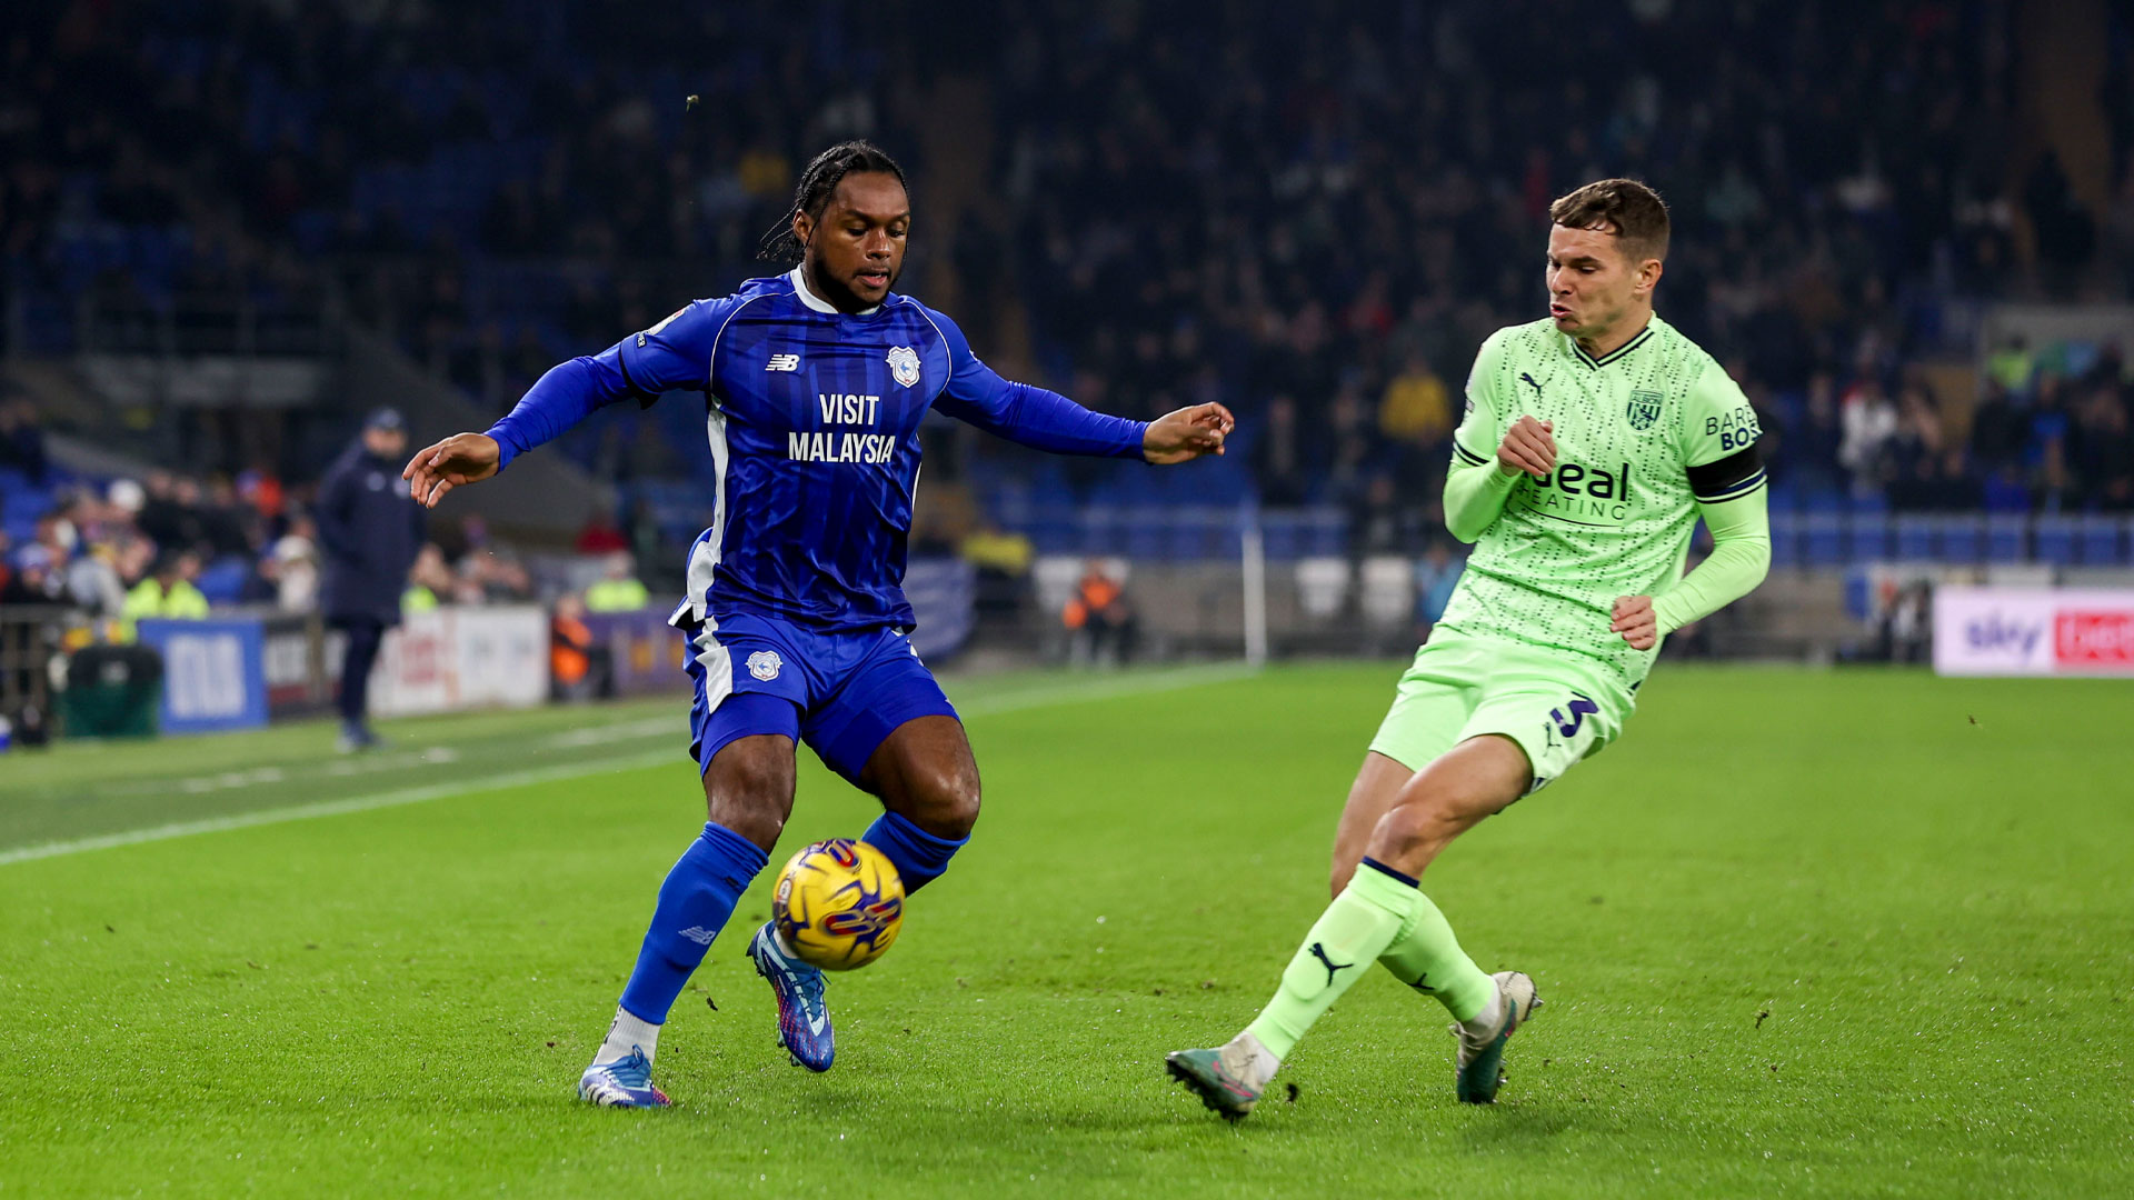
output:
<path id="1" fill-rule="evenodd" d="M 318 483 L 318 544 L 324 551 L 320 606 L 327 626 L 348 634 L 341 658 L 341 752 L 378 745 L 365 724 L 378 643 L 399 623 L 408 568 L 423 549 L 423 506 L 399 487 L 408 423 L 380 408 L 363 438 L 327 468 Z"/>

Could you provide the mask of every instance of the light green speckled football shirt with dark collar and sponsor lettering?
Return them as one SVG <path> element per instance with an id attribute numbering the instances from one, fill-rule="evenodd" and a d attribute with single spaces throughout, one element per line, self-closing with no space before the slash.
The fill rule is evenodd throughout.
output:
<path id="1" fill-rule="evenodd" d="M 1598 660 L 1628 692 L 1658 647 L 1637 651 L 1609 632 L 1615 598 L 1682 579 L 1697 500 L 1763 487 L 1761 470 L 1703 495 L 1690 487 L 1690 468 L 1756 440 L 1756 412 L 1711 354 L 1654 316 L 1605 359 L 1551 320 L 1492 333 L 1468 376 L 1455 459 L 1496 470 L 1496 448 L 1519 416 L 1554 423 L 1556 470 L 1513 483 L 1443 623 Z"/>

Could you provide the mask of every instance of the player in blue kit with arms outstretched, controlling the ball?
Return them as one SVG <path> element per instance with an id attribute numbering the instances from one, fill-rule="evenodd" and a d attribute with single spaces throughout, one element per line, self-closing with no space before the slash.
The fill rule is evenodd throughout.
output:
<path id="1" fill-rule="evenodd" d="M 435 506 L 602 406 L 704 393 L 713 517 L 689 549 L 672 626 L 687 641 L 706 822 L 659 886 L 615 1021 L 578 1080 L 589 1102 L 668 1104 L 651 1080 L 659 1027 L 785 828 L 798 743 L 881 801 L 862 839 L 896 865 L 907 895 L 971 835 L 977 764 L 907 641 L 901 589 L 926 412 L 1041 451 L 1159 465 L 1219 455 L 1231 431 L 1219 404 L 1142 423 L 1003 380 L 954 320 L 890 290 L 909 226 L 896 162 L 864 141 L 834 145 L 809 162 L 764 241 L 766 258 L 798 258 L 796 269 L 553 367 L 487 433 L 455 433 L 403 472 Z M 822 972 L 768 922 L 747 954 L 777 995 L 779 1042 L 828 1070 Z"/>

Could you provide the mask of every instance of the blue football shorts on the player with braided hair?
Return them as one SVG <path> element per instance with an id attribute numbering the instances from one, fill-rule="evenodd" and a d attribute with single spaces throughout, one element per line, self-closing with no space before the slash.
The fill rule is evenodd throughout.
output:
<path id="1" fill-rule="evenodd" d="M 679 632 L 696 692 L 689 756 L 700 773 L 730 741 L 777 732 L 807 743 L 830 771 L 858 784 L 896 726 L 956 717 L 903 630 L 824 634 L 777 617 L 732 615 Z"/>

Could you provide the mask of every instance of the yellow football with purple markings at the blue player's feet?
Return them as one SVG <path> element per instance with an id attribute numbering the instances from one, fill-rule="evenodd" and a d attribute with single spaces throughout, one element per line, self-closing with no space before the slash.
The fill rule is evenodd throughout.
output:
<path id="1" fill-rule="evenodd" d="M 849 972 L 896 944 L 905 882 L 886 854 L 856 837 L 802 846 L 779 873 L 770 918 L 794 954 Z"/>

